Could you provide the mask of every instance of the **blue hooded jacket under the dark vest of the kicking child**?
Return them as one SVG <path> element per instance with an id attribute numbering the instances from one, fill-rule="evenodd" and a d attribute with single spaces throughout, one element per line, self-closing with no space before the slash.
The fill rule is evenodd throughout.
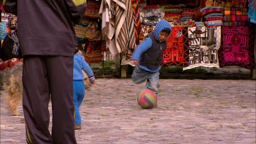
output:
<path id="1" fill-rule="evenodd" d="M 143 57 L 143 55 L 145 55 L 145 52 L 147 52 L 150 48 L 152 48 L 153 42 L 156 42 L 159 44 L 159 34 L 163 29 L 171 30 L 171 25 L 167 22 L 167 20 L 160 20 L 160 22 L 154 28 L 154 31 L 152 32 L 152 33 L 154 33 L 154 36 L 152 36 L 154 38 L 154 40 L 152 40 L 152 38 L 150 38 L 150 37 L 147 37 L 147 38 L 145 38 L 145 40 L 143 40 L 143 42 L 141 42 L 141 44 L 139 44 L 139 46 L 137 46 L 137 48 L 135 49 L 135 51 L 132 55 L 132 60 L 141 61 L 141 58 Z M 149 35 L 151 35 L 151 34 L 149 34 Z M 169 35 L 168 35 L 168 37 L 169 37 Z M 162 42 L 162 43 L 166 43 L 166 41 Z M 162 48 L 162 50 L 165 50 L 165 48 Z M 158 48 L 159 51 L 161 51 L 160 49 L 161 48 Z M 161 53 L 163 53 L 163 51 L 161 51 Z M 138 66 L 139 66 L 139 68 L 141 68 L 147 72 L 158 72 L 160 70 L 160 63 L 159 63 L 158 68 L 156 68 L 156 69 L 148 68 L 148 66 L 144 66 L 141 63 Z"/>

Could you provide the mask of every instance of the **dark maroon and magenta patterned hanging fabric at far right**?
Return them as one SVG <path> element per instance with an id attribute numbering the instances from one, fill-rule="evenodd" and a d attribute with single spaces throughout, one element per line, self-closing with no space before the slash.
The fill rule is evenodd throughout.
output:
<path id="1" fill-rule="evenodd" d="M 218 50 L 220 67 L 255 68 L 254 31 L 254 27 L 223 27 L 223 44 Z"/>

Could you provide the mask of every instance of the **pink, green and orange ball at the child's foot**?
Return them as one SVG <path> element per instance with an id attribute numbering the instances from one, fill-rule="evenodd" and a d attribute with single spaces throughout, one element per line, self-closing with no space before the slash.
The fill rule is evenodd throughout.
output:
<path id="1" fill-rule="evenodd" d="M 139 93 L 137 102 L 142 109 L 152 109 L 156 107 L 157 97 L 154 91 L 145 89 Z"/>

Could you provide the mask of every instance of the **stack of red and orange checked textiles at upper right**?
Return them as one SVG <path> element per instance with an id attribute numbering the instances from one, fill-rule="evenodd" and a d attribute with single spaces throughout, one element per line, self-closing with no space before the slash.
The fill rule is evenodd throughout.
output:
<path id="1" fill-rule="evenodd" d="M 246 0 L 231 1 L 223 9 L 224 26 L 248 26 Z"/>

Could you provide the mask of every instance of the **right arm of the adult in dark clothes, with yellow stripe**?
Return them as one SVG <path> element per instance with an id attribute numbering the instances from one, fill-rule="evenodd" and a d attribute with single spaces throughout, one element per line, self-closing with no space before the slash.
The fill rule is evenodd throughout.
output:
<path id="1" fill-rule="evenodd" d="M 86 0 L 66 0 L 66 6 L 70 12 L 73 23 L 81 23 L 87 7 Z"/>

